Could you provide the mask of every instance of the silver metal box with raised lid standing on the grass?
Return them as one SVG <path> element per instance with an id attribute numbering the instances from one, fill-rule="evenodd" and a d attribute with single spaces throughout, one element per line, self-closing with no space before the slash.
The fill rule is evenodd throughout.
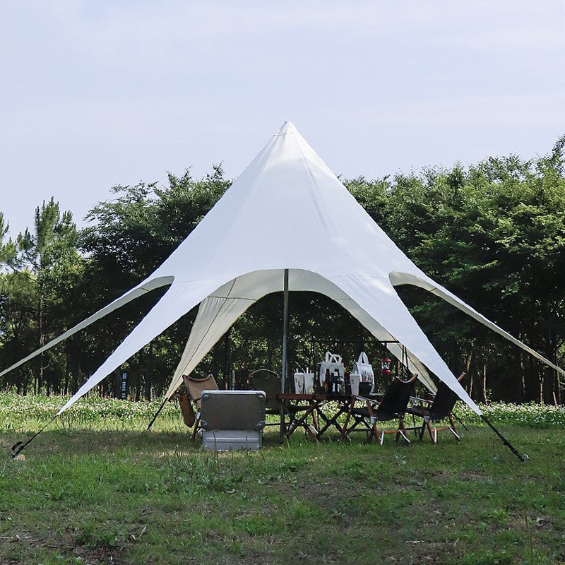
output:
<path id="1" fill-rule="evenodd" d="M 203 391 L 200 425 L 204 449 L 258 449 L 263 442 L 263 391 Z"/>

